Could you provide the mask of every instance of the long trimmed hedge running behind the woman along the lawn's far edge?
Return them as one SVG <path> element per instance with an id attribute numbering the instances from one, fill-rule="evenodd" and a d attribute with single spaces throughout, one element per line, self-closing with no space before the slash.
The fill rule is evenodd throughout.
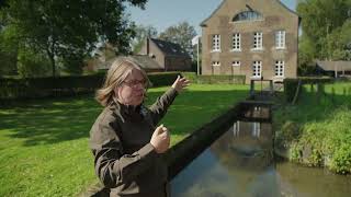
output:
<path id="1" fill-rule="evenodd" d="M 0 100 L 75 95 L 93 92 L 103 84 L 105 73 L 58 78 L 0 79 Z M 245 83 L 245 76 L 196 76 L 195 72 L 152 72 L 152 86 L 170 85 L 181 74 L 192 83 Z"/>

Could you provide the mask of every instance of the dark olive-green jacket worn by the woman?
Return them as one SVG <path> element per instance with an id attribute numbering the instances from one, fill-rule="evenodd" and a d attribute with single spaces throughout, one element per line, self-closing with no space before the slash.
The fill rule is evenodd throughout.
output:
<path id="1" fill-rule="evenodd" d="M 149 108 L 114 102 L 97 118 L 90 148 L 111 196 L 166 196 L 167 165 L 149 141 L 176 96 L 170 89 Z"/>

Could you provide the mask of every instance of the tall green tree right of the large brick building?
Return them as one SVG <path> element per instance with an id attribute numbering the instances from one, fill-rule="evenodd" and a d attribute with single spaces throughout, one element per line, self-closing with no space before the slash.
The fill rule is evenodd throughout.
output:
<path id="1" fill-rule="evenodd" d="M 342 26 L 350 21 L 351 0 L 303 0 L 297 4 L 297 12 L 302 16 L 303 34 L 314 44 L 315 58 L 335 60 L 340 53 L 333 53 L 338 37 L 343 33 Z M 342 54 L 342 53 L 341 53 Z"/>

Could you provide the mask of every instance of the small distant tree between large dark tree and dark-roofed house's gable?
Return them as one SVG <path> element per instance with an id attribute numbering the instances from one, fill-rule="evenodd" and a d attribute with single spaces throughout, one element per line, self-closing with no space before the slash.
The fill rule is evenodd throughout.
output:
<path id="1" fill-rule="evenodd" d="M 140 51 L 144 42 L 146 40 L 147 37 L 157 37 L 157 30 L 156 27 L 148 25 L 138 25 L 135 27 L 135 37 L 132 42 L 132 49 L 134 54 L 137 54 Z"/>

